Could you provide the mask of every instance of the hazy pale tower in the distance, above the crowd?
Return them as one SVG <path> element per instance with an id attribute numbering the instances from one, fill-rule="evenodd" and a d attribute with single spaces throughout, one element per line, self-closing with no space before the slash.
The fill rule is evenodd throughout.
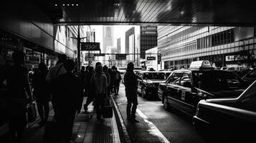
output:
<path id="1" fill-rule="evenodd" d="M 113 26 L 103 26 L 103 51 L 106 53 L 108 46 L 114 46 L 114 29 Z M 108 59 L 103 57 L 103 64 L 106 64 Z"/>

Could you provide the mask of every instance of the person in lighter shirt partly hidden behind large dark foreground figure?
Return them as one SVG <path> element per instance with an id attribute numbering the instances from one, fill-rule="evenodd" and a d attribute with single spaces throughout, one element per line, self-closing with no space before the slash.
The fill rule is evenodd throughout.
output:
<path id="1" fill-rule="evenodd" d="M 62 74 L 65 74 L 67 71 L 66 69 L 64 68 L 63 66 L 63 63 L 67 60 L 67 56 L 65 54 L 60 54 L 58 56 L 58 61 L 56 63 L 55 66 L 53 66 L 51 69 L 49 69 L 48 71 L 48 74 L 47 74 L 47 77 L 46 77 L 46 80 L 47 82 L 49 82 L 49 85 L 50 85 L 50 92 L 52 94 L 52 107 L 53 107 L 53 110 L 54 110 L 54 113 L 56 112 L 55 111 L 55 99 L 54 99 L 54 96 L 53 96 L 53 92 L 54 92 L 54 79 L 57 79 L 57 77 L 59 77 L 60 75 Z M 56 114 L 54 114 L 54 117 L 56 117 Z"/>

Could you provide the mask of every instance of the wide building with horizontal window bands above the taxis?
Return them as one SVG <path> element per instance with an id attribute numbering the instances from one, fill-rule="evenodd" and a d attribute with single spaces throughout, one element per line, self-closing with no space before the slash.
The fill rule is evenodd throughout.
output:
<path id="1" fill-rule="evenodd" d="M 255 37 L 254 27 L 158 26 L 161 69 L 204 59 L 217 67 L 256 65 Z"/>

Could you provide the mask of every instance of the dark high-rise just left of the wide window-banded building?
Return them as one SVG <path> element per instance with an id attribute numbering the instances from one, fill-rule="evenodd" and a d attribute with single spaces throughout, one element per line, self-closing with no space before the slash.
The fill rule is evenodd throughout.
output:
<path id="1" fill-rule="evenodd" d="M 157 26 L 141 26 L 141 59 L 145 59 L 145 51 L 157 46 Z"/>

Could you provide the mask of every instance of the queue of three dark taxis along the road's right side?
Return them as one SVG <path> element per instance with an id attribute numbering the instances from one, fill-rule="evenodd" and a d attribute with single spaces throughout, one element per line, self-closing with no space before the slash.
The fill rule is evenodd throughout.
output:
<path id="1" fill-rule="evenodd" d="M 188 114 L 198 132 L 222 131 L 222 139 L 229 140 L 234 135 L 235 139 L 248 138 L 247 127 L 255 132 L 256 82 L 214 69 L 209 61 L 192 61 L 189 69 L 137 71 L 136 75 L 141 97 L 158 97 L 164 109 L 175 108 Z"/>

